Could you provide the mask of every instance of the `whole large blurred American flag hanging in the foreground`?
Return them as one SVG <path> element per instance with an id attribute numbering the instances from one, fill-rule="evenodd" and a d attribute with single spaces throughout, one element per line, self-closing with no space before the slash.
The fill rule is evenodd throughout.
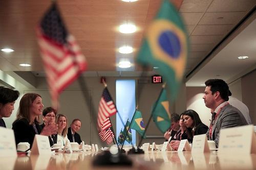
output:
<path id="1" fill-rule="evenodd" d="M 37 28 L 37 37 L 52 104 L 57 108 L 59 93 L 86 70 L 86 58 L 75 38 L 65 28 L 56 3 L 52 4 L 42 18 Z"/>

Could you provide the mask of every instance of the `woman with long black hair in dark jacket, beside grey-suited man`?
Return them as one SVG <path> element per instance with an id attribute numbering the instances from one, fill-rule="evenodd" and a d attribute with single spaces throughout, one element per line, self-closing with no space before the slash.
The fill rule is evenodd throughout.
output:
<path id="1" fill-rule="evenodd" d="M 189 143 L 193 142 L 194 135 L 205 134 L 208 131 L 208 127 L 204 125 L 194 110 L 186 110 L 182 113 L 183 122 L 186 127 L 186 135 Z M 180 145 L 179 140 L 172 140 L 170 146 L 173 150 L 177 151 Z"/>

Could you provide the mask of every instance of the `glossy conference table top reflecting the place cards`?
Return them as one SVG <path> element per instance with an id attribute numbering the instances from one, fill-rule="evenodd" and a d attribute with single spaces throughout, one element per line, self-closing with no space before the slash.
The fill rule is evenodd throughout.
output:
<path id="1" fill-rule="evenodd" d="M 0 169 L 256 169 L 256 154 L 145 152 L 127 155 L 132 166 L 94 166 L 102 152 L 1 157 Z"/>

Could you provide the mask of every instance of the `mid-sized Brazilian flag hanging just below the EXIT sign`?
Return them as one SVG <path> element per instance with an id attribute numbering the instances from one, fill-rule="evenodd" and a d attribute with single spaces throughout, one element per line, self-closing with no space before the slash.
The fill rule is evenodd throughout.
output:
<path id="1" fill-rule="evenodd" d="M 163 88 L 157 103 L 153 105 L 152 117 L 158 129 L 164 133 L 170 127 L 169 102 L 166 89 Z"/>

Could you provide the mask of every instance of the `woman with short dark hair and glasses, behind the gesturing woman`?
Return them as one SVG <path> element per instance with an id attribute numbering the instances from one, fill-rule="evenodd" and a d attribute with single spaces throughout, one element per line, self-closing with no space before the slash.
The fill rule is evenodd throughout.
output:
<path id="1" fill-rule="evenodd" d="M 57 111 L 53 109 L 52 107 L 47 107 L 42 111 L 42 120 L 44 120 L 44 123 L 41 124 L 41 128 L 43 129 L 46 124 L 55 124 L 55 118 L 56 118 Z M 50 145 L 54 143 L 57 143 L 57 134 L 48 136 Z"/>

